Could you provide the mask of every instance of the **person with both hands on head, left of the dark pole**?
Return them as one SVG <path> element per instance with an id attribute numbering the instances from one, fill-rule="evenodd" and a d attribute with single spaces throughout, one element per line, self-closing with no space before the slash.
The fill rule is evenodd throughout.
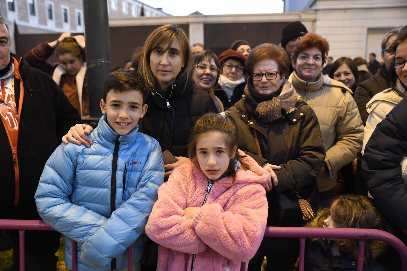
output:
<path id="1" fill-rule="evenodd" d="M 46 62 L 54 51 L 60 63 Z M 85 37 L 62 33 L 55 41 L 41 43 L 28 51 L 24 59 L 31 67 L 49 74 L 81 116 L 89 115 Z"/>

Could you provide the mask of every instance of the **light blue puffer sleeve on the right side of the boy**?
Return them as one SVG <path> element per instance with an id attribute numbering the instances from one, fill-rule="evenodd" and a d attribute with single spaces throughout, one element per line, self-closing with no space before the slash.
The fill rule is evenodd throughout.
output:
<path id="1" fill-rule="evenodd" d="M 148 157 L 137 190 L 130 199 L 112 212 L 112 216 L 81 247 L 79 262 L 88 267 L 105 267 L 112 258 L 123 254 L 144 232 L 144 227 L 164 182 L 164 163 L 157 141 L 147 150 Z"/>

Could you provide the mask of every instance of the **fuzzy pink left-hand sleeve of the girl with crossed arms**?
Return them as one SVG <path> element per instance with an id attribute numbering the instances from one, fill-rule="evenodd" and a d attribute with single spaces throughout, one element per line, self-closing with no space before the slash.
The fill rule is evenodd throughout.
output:
<path id="1" fill-rule="evenodd" d="M 184 209 L 188 207 L 186 200 L 186 176 L 178 167 L 168 182 L 158 189 L 158 201 L 145 230 L 155 243 L 183 253 L 197 254 L 205 251 L 207 246 L 192 228 L 192 219 L 184 217 Z"/>

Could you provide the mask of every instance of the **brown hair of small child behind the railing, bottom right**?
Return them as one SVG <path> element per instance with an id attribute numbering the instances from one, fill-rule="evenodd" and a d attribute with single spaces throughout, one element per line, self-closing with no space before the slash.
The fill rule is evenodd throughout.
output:
<path id="1" fill-rule="evenodd" d="M 332 212 L 331 207 L 334 206 Z M 338 195 L 332 199 L 328 208 L 318 212 L 317 216 L 306 227 L 323 227 L 324 220 L 331 216 L 338 228 L 363 228 L 383 230 L 383 219 L 374 202 L 361 195 Z M 385 250 L 386 244 L 378 240 L 365 240 L 364 262 L 372 264 L 373 260 Z M 354 259 L 359 255 L 359 241 L 344 239 L 340 244 L 341 254 L 352 254 Z"/>

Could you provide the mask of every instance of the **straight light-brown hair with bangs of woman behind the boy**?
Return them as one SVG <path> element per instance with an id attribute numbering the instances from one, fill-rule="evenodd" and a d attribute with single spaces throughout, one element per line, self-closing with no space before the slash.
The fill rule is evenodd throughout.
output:
<path id="1" fill-rule="evenodd" d="M 179 72 L 178 77 L 186 76 L 185 86 L 187 85 L 190 72 L 192 71 L 192 54 L 188 37 L 186 36 L 184 30 L 174 24 L 166 24 L 155 29 L 149 35 L 149 37 L 147 37 L 146 42 L 144 43 L 144 52 L 140 59 L 138 72 L 144 77 L 147 85 L 150 85 L 151 87 L 156 87 L 158 85 L 157 79 L 151 71 L 151 52 L 154 50 L 154 48 L 167 42 L 168 46 L 163 50 L 164 52 L 168 51 L 175 39 L 179 41 L 179 45 L 181 46 L 182 61 L 185 63 L 185 66 L 181 69 L 181 72 Z"/>

